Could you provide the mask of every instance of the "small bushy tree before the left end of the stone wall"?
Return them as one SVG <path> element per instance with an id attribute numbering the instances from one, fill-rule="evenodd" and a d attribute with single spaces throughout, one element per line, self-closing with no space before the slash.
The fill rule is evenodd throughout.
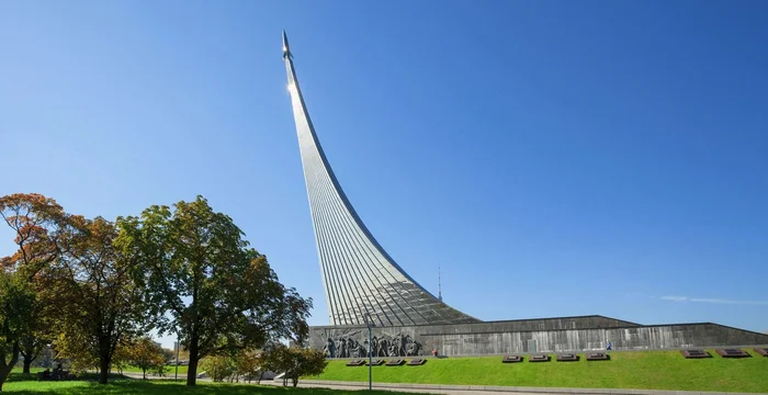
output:
<path id="1" fill-rule="evenodd" d="M 291 380 L 293 386 L 298 385 L 298 377 L 303 375 L 316 375 L 323 373 L 328 362 L 320 350 L 286 347 L 282 343 L 273 345 L 262 356 L 262 366 L 274 372 L 282 372 L 283 385 Z"/>

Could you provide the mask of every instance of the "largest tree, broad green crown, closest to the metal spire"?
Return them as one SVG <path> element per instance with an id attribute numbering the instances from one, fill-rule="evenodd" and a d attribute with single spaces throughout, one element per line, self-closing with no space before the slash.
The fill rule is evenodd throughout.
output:
<path id="1" fill-rule="evenodd" d="M 278 281 L 229 216 L 202 196 L 174 208 L 154 205 L 118 218 L 118 244 L 135 262 L 159 332 L 178 331 L 189 350 L 188 385 L 204 357 L 307 336 L 312 301 Z"/>

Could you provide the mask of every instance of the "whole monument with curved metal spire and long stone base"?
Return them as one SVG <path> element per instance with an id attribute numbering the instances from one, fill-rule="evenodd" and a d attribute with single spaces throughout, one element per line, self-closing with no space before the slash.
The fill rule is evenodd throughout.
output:
<path id="1" fill-rule="evenodd" d="M 712 323 L 645 326 L 598 315 L 484 323 L 452 308 L 395 263 L 354 212 L 309 119 L 285 32 L 283 60 L 330 320 L 310 328 L 309 342 L 328 357 L 364 357 L 369 348 L 405 357 L 602 350 L 608 342 L 614 350 L 768 345 L 768 335 Z"/>

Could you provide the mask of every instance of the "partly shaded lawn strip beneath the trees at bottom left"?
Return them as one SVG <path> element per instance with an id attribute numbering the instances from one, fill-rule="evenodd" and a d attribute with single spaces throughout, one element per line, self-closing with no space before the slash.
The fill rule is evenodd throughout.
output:
<path id="1" fill-rule="evenodd" d="M 398 393 L 384 391 L 334 391 L 317 388 L 284 388 L 273 386 L 260 386 L 252 384 L 219 384 L 199 382 L 194 387 L 188 387 L 181 381 L 143 381 L 117 380 L 106 385 L 92 382 L 11 382 L 3 386 L 3 393 L 11 394 L 46 394 L 46 395 L 171 395 L 171 394 L 200 394 L 200 395 L 331 395 L 331 394 L 359 394 L 359 395 L 397 395 Z"/>

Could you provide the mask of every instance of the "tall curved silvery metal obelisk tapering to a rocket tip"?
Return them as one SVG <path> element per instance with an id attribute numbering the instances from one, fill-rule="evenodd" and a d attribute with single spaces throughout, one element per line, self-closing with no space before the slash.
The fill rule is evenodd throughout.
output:
<path id="1" fill-rule="evenodd" d="M 283 31 L 283 59 L 331 325 L 461 324 L 479 320 L 442 303 L 376 242 L 328 165 L 298 88 Z"/>

